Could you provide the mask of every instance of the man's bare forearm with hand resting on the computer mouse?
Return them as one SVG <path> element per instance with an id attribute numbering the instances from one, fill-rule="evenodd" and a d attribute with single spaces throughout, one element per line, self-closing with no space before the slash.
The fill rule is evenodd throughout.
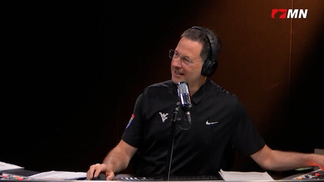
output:
<path id="1" fill-rule="evenodd" d="M 91 165 L 87 172 L 87 179 L 97 177 L 101 172 L 105 173 L 106 180 L 112 180 L 115 173 L 127 168 L 131 158 L 137 151 L 123 140 L 114 147 L 104 158 L 102 164 Z"/>

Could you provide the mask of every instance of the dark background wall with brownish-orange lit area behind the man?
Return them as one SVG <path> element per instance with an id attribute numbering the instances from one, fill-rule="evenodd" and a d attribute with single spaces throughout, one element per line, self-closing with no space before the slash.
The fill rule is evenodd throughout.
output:
<path id="1" fill-rule="evenodd" d="M 168 50 L 191 26 L 223 42 L 211 78 L 238 95 L 269 147 L 324 148 L 324 2 L 19 2 L 4 5 L 0 161 L 87 171 L 117 144 L 135 100 L 171 78 Z M 272 9 L 308 9 L 272 19 Z M 233 170 L 261 170 L 236 155 Z"/>

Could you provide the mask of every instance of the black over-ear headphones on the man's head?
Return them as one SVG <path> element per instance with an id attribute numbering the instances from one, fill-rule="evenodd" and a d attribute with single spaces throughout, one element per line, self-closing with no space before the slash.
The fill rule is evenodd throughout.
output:
<path id="1" fill-rule="evenodd" d="M 212 34 L 205 28 L 199 27 L 199 26 L 194 26 L 191 28 L 198 29 L 198 30 L 204 32 L 209 40 L 209 44 L 211 47 L 211 56 L 205 60 L 203 68 L 201 68 L 201 75 L 211 76 L 212 74 L 215 73 L 215 71 L 218 67 L 218 61 L 216 59 L 216 56 L 217 56 L 216 43 L 217 42 L 216 42 L 215 38 L 212 36 Z"/>

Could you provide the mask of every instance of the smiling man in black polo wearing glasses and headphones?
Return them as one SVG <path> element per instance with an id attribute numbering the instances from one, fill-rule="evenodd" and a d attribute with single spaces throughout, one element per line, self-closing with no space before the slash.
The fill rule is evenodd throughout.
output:
<path id="1" fill-rule="evenodd" d="M 192 107 L 191 124 L 180 110 L 174 133 L 170 174 L 213 175 L 228 163 L 228 149 L 251 156 L 266 170 L 291 170 L 305 166 L 324 167 L 324 156 L 270 149 L 239 101 L 209 77 L 216 71 L 220 52 L 217 34 L 204 27 L 183 32 L 175 50 L 170 50 L 172 79 L 146 87 L 118 143 L 102 164 L 91 165 L 87 179 L 127 168 L 136 154 L 136 173 L 164 174 L 170 150 L 170 131 L 177 84 L 188 83 Z"/>

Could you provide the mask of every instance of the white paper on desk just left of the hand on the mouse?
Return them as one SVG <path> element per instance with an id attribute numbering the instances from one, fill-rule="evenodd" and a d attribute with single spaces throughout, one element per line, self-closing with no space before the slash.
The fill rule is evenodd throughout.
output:
<path id="1" fill-rule="evenodd" d="M 53 171 L 34 174 L 29 177 L 36 178 L 36 179 L 47 179 L 47 180 L 73 180 L 78 178 L 85 178 L 87 177 L 87 173 L 53 170 Z"/>

